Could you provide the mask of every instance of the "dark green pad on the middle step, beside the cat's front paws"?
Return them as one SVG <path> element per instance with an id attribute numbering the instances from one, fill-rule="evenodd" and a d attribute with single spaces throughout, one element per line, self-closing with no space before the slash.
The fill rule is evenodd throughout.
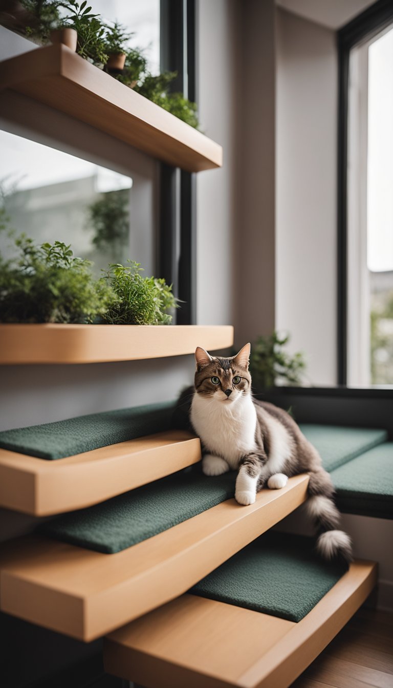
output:
<path id="1" fill-rule="evenodd" d="M 114 554 L 168 530 L 233 497 L 235 471 L 217 477 L 191 466 L 44 524 L 41 532 L 74 545 Z"/>

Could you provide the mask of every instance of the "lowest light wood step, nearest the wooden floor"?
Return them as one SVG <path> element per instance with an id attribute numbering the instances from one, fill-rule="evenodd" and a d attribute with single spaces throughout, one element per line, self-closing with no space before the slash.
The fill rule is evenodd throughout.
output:
<path id="1" fill-rule="evenodd" d="M 286 688 L 376 584 L 355 561 L 298 623 L 185 594 L 110 634 L 105 671 L 149 688 Z"/>

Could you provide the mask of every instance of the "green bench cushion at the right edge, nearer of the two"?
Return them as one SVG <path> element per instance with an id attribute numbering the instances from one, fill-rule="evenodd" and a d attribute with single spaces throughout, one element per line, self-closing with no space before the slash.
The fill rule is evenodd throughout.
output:
<path id="1" fill-rule="evenodd" d="M 393 442 L 385 442 L 332 473 L 341 511 L 393 519 Z"/>

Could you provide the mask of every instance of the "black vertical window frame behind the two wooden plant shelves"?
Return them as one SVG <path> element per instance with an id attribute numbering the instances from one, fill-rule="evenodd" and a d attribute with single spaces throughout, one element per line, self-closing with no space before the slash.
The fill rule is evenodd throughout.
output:
<path id="1" fill-rule="evenodd" d="M 160 0 L 160 68 L 177 72 L 171 88 L 198 100 L 195 0 Z M 196 322 L 196 179 L 160 164 L 158 275 L 182 303 L 176 324 Z"/>

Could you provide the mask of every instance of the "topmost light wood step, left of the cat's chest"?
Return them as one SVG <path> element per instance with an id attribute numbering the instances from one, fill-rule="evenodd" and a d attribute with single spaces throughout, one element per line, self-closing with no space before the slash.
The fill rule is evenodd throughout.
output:
<path id="1" fill-rule="evenodd" d="M 200 440 L 169 430 L 56 461 L 0 449 L 0 505 L 34 516 L 104 502 L 200 461 Z"/>

